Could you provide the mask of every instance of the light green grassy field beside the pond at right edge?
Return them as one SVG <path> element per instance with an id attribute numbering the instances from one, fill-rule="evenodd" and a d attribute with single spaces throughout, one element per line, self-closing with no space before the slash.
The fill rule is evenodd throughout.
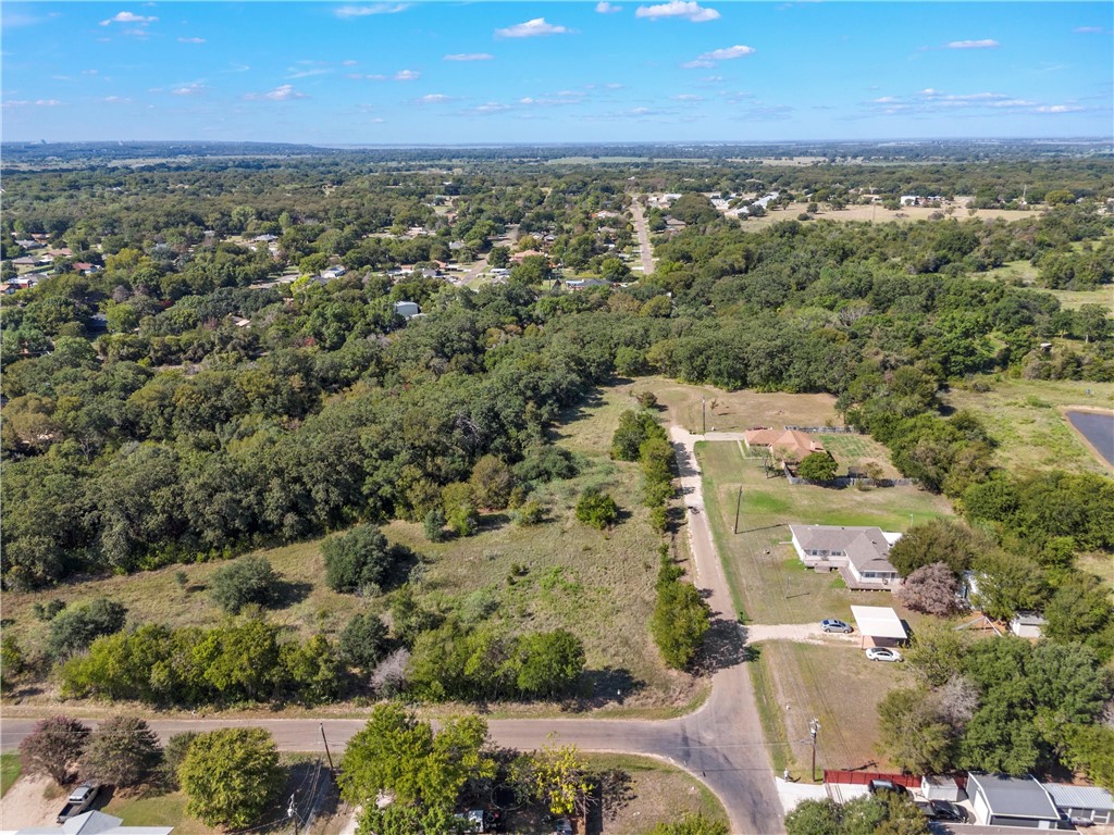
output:
<path id="1" fill-rule="evenodd" d="M 1110 472 L 1068 425 L 1066 406 L 1114 406 L 1114 386 L 1072 380 L 981 377 L 987 392 L 954 387 L 942 400 L 969 409 L 998 444 L 994 462 L 1012 470 L 1088 470 Z M 1091 392 L 1089 394 L 1087 392 Z"/>

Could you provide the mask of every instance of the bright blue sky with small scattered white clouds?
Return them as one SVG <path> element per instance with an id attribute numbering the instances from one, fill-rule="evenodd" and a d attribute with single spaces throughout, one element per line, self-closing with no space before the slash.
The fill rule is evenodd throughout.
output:
<path id="1" fill-rule="evenodd" d="M 4 141 L 1114 134 L 1114 3 L 4 0 Z"/>

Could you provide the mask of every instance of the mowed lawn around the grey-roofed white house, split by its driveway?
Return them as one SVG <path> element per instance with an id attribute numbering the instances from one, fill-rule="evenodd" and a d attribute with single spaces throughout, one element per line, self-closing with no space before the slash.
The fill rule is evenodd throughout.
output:
<path id="1" fill-rule="evenodd" d="M 916 488 L 829 490 L 766 479 L 760 462 L 744 460 L 734 443 L 697 444 L 705 512 L 744 622 L 807 623 L 851 619 L 851 606 L 893 606 L 916 629 L 924 616 L 898 606 L 889 592 L 850 591 L 836 574 L 815 573 L 790 544 L 793 523 L 878 525 L 906 531 L 948 515 L 940 497 Z M 739 488 L 739 533 L 733 533 Z M 898 665 L 868 661 L 858 644 L 768 641 L 752 668 L 763 724 L 778 770 L 808 778 L 808 721 L 820 719 L 818 773 L 881 762 L 874 749 L 874 706 L 902 684 Z"/>

